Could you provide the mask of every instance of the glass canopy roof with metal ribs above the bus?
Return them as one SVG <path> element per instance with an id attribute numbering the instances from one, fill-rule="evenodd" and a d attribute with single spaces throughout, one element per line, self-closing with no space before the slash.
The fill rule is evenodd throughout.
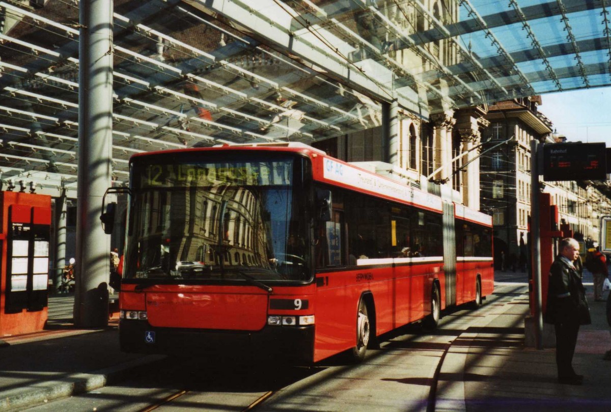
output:
<path id="1" fill-rule="evenodd" d="M 607 3 L 115 0 L 113 178 L 137 152 L 373 128 L 393 100 L 428 120 L 609 86 Z M 0 0 L 2 189 L 75 188 L 78 7 Z"/>

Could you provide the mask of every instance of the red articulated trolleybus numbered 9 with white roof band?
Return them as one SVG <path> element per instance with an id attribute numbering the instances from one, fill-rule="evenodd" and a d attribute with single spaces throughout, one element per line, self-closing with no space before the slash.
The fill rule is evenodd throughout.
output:
<path id="1" fill-rule="evenodd" d="M 124 351 L 359 361 L 494 289 L 490 216 L 304 144 L 142 153 L 130 170 Z"/>

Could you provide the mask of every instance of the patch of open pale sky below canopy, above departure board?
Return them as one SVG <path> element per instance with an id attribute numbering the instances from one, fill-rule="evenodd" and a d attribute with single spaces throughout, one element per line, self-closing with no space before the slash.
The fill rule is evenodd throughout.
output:
<path id="1" fill-rule="evenodd" d="M 611 147 L 611 87 L 541 95 L 538 110 L 571 142 Z"/>

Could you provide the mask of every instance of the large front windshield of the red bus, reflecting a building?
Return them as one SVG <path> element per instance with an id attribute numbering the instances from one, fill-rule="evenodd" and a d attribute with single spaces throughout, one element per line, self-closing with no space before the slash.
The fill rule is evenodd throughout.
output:
<path id="1" fill-rule="evenodd" d="M 254 152 L 166 157 L 133 161 L 124 279 L 311 278 L 304 159 Z"/>

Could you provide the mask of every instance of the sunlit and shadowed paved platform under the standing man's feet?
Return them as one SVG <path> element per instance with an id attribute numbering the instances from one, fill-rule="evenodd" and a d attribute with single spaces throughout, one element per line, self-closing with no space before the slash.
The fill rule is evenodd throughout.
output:
<path id="1" fill-rule="evenodd" d="M 452 345 L 440 375 L 436 411 L 611 411 L 611 361 L 603 359 L 611 350 L 606 302 L 593 301 L 592 285 L 585 280 L 593 322 L 581 326 L 573 359 L 576 372 L 584 375 L 582 385 L 557 382 L 555 348 L 524 347 L 529 301 L 521 295 Z M 554 333 L 552 325 L 545 327 Z"/>

